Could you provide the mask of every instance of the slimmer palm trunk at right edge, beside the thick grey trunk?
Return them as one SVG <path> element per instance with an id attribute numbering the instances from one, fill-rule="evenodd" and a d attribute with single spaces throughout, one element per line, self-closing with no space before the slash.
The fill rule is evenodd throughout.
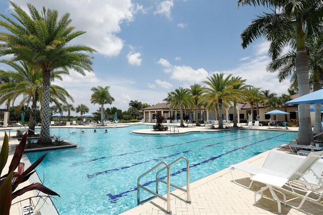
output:
<path id="1" fill-rule="evenodd" d="M 319 90 L 320 89 L 320 84 L 319 84 L 319 75 L 318 75 L 318 68 L 314 68 L 314 75 L 313 75 L 314 83 L 313 83 L 313 90 Z M 314 129 L 313 129 L 313 134 L 319 134 L 322 133 L 322 126 L 321 126 L 321 104 L 316 103 L 315 104 L 315 120 L 314 120 Z M 320 135 L 322 138 L 323 135 Z"/>

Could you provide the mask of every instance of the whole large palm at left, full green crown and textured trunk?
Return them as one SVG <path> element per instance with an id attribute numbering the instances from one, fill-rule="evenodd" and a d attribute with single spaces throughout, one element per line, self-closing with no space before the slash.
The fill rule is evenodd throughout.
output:
<path id="1" fill-rule="evenodd" d="M 41 13 L 31 4 L 27 4 L 29 13 L 11 2 L 16 14 L 16 20 L 0 16 L 4 21 L 0 27 L 10 33 L 2 33 L 0 37 L 0 56 L 13 55 L 11 61 L 23 60 L 37 66 L 42 71 L 42 102 L 41 102 L 41 132 L 38 142 L 51 144 L 50 139 L 50 77 L 56 70 L 73 69 L 82 75 L 84 70 L 92 71 L 91 57 L 87 51 L 95 51 L 86 45 L 68 45 L 74 38 L 84 34 L 84 31 L 73 31 L 70 26 L 70 15 L 64 14 L 58 19 L 57 10 L 46 10 Z"/>

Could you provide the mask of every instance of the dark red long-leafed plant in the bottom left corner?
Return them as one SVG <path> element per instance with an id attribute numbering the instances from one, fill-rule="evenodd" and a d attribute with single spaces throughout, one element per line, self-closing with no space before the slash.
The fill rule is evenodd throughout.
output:
<path id="1" fill-rule="evenodd" d="M 41 183 L 33 183 L 21 189 L 18 189 L 18 185 L 27 181 L 29 177 L 36 172 L 35 168 L 42 162 L 46 154 L 36 160 L 27 170 L 24 170 L 25 164 L 20 162 L 21 157 L 24 153 L 27 140 L 27 133 L 21 139 L 19 145 L 17 146 L 14 156 L 9 165 L 8 173 L 3 175 L 3 170 L 8 160 L 9 156 L 9 138 L 7 133 L 5 133 L 4 144 L 0 152 L 0 214 L 9 214 L 11 202 L 17 196 L 20 196 L 31 190 L 38 190 L 50 195 L 60 196 L 56 192 L 45 187 Z M 17 169 L 17 172 L 14 172 Z"/>

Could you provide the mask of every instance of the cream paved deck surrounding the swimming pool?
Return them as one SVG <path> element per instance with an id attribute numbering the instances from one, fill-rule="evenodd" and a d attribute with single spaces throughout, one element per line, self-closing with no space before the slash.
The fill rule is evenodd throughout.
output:
<path id="1" fill-rule="evenodd" d="M 148 124 L 154 125 L 154 124 Z M 73 128 L 84 128 L 84 126 L 72 126 Z M 114 126 L 116 127 L 116 126 Z M 68 128 L 67 126 L 60 126 L 60 128 Z M 254 129 L 264 129 L 264 130 L 273 130 L 263 128 L 254 128 Z M 15 129 L 15 128 L 14 128 Z M 184 128 L 182 133 L 186 132 L 201 132 L 206 131 L 204 127 L 196 128 Z M 189 129 L 189 130 L 187 130 Z M 290 128 L 286 131 L 297 131 L 298 128 Z M 150 130 L 150 129 L 148 129 Z M 210 129 L 211 131 L 216 131 Z M 285 131 L 285 130 L 283 130 Z M 151 133 L 155 132 L 150 130 Z M 3 133 L 0 133 L 0 145 L 2 145 Z M 169 133 L 167 133 L 169 134 Z M 18 144 L 18 140 L 11 139 L 10 141 L 10 152 L 9 160 L 12 159 L 15 146 Z M 72 149 L 73 150 L 73 149 Z M 243 162 L 252 163 L 254 165 L 260 166 L 263 162 L 264 157 L 268 151 L 258 154 L 254 157 L 251 157 Z M 29 163 L 29 160 L 26 155 L 23 156 L 23 162 Z M 9 164 L 7 164 L 9 166 Z M 30 163 L 29 163 L 30 165 Z M 28 166 L 28 165 L 26 165 Z M 241 183 L 250 182 L 249 175 L 242 171 L 234 171 L 236 178 Z M 35 182 L 39 180 L 38 177 L 34 174 L 34 178 L 31 178 L 28 182 L 25 182 L 24 186 L 28 183 Z M 36 178 L 36 179 L 35 179 Z M 259 190 L 260 187 L 263 187 L 263 184 L 254 183 L 251 189 L 246 189 L 242 186 L 239 186 L 232 182 L 231 175 L 229 173 L 229 168 L 226 168 L 220 172 L 214 173 L 210 176 L 204 177 L 200 180 L 192 182 L 190 184 L 190 198 L 192 203 L 186 204 L 185 197 L 186 194 L 175 190 L 171 194 L 171 210 L 173 214 L 277 214 L 278 206 L 277 202 L 273 200 L 268 192 L 264 192 L 265 198 L 261 198 L 257 201 L 255 205 L 253 202 L 254 192 Z M 22 187 L 22 186 L 21 186 Z M 24 196 L 19 197 L 17 200 L 22 200 L 28 197 L 33 196 L 33 193 L 24 194 Z M 294 197 L 292 195 L 287 195 L 287 199 Z M 293 200 L 297 202 L 299 199 Z M 50 200 L 47 200 L 48 203 L 45 204 L 40 210 L 35 211 L 35 214 L 57 214 L 57 211 L 54 206 L 51 205 Z M 54 200 L 55 202 L 55 200 Z M 11 208 L 10 214 L 22 214 L 21 207 L 28 204 L 29 201 L 25 200 L 18 204 L 15 204 Z M 296 205 L 296 203 L 295 203 Z M 122 214 L 165 214 L 166 203 L 160 199 L 153 199 L 149 202 L 139 205 L 130 210 L 123 212 Z M 282 213 L 283 214 L 321 214 L 323 211 L 323 202 L 314 203 L 311 201 L 305 201 L 301 209 L 296 210 L 282 204 Z"/>

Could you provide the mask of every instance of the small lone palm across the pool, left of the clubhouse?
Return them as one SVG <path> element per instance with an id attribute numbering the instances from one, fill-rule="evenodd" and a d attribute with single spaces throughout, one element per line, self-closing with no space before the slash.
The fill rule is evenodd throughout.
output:
<path id="1" fill-rule="evenodd" d="M 100 104 L 101 105 L 101 123 L 103 124 L 103 104 L 112 104 L 115 101 L 115 98 L 111 96 L 109 92 L 110 86 L 102 87 L 92 87 L 91 90 L 93 91 L 91 95 L 91 103 L 93 104 Z"/>

